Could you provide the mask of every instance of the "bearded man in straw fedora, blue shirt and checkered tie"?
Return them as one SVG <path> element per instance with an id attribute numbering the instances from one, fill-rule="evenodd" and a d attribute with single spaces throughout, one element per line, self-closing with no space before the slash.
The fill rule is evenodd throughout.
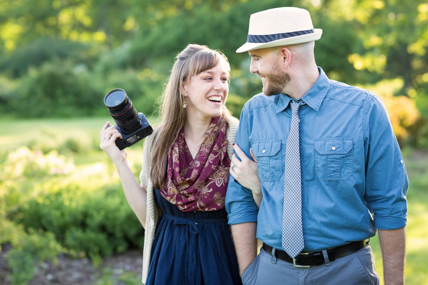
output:
<path id="1" fill-rule="evenodd" d="M 404 284 L 404 161 L 379 97 L 316 66 L 321 33 L 304 9 L 270 9 L 251 15 L 237 50 L 248 51 L 263 82 L 235 139 L 241 163 L 250 148 L 256 157 L 262 203 L 232 176 L 226 194 L 242 280 L 379 284 L 365 242 L 378 229 L 385 284 Z"/>

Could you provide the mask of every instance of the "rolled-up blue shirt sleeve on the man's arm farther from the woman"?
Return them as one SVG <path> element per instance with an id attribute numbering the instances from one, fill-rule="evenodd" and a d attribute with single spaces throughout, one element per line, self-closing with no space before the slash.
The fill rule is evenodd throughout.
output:
<path id="1" fill-rule="evenodd" d="M 386 108 L 373 96 L 365 120 L 366 206 L 377 229 L 400 229 L 407 223 L 404 159 Z"/>

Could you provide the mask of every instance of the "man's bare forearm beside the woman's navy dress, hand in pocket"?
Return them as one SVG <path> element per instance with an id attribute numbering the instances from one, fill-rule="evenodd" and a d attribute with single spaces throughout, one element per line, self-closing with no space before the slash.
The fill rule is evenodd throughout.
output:
<path id="1" fill-rule="evenodd" d="M 257 223 L 238 223 L 231 226 L 236 256 L 238 257 L 239 275 L 242 275 L 245 268 L 256 258 L 256 227 Z"/>

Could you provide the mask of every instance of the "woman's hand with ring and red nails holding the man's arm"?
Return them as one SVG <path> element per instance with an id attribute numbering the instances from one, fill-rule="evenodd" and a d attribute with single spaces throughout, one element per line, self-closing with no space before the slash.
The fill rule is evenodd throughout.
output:
<path id="1" fill-rule="evenodd" d="M 230 174 L 239 184 L 253 192 L 254 201 L 257 206 L 260 206 L 260 202 L 262 201 L 262 182 L 257 174 L 256 156 L 254 156 L 253 150 L 250 148 L 250 154 L 254 161 L 249 159 L 241 148 L 238 147 L 238 144 L 233 144 L 233 149 L 241 160 L 238 159 L 235 153 L 232 155 Z"/>

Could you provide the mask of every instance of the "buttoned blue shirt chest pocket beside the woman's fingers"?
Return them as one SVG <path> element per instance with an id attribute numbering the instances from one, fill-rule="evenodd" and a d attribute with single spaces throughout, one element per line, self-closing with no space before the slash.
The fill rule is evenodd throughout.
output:
<path id="1" fill-rule="evenodd" d="M 278 180 L 282 175 L 281 140 L 252 141 L 252 150 L 257 158 L 257 170 L 260 180 Z"/>

